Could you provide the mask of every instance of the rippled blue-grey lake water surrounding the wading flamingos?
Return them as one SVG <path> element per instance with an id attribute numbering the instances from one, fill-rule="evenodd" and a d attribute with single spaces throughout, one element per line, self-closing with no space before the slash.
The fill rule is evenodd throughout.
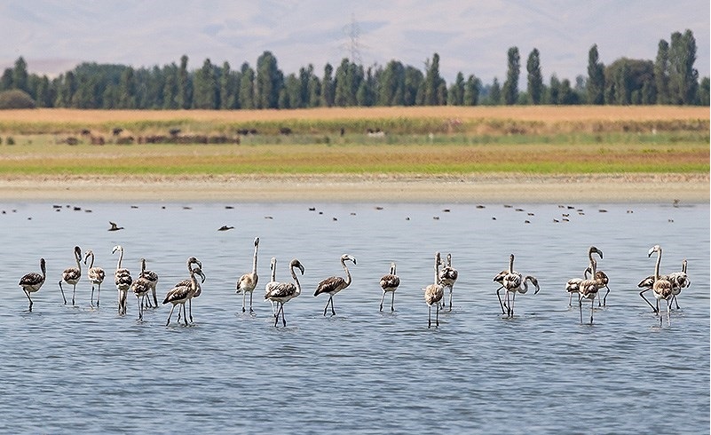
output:
<path id="1" fill-rule="evenodd" d="M 709 430 L 707 204 L 72 205 L 82 210 L 0 204 L 0 431 Z M 570 221 L 554 222 L 562 213 Z M 126 229 L 108 232 L 109 220 Z M 221 225 L 235 228 L 217 232 Z M 260 284 L 250 316 L 234 282 L 251 269 L 256 236 Z M 93 249 L 107 270 L 99 309 L 85 277 L 77 306 L 62 304 L 57 282 L 74 265 L 75 244 Z M 115 244 L 134 276 L 140 257 L 160 274 L 159 298 L 186 278 L 186 257 L 201 259 L 208 279 L 192 326 L 174 315 L 166 327 L 166 305 L 138 322 L 132 295 L 128 314 L 117 315 Z M 564 287 L 587 265 L 592 244 L 604 251 L 598 267 L 612 292 L 590 326 L 568 307 Z M 664 248 L 662 273 L 679 270 L 683 257 L 689 262 L 691 288 L 671 327 L 665 320 L 660 328 L 637 295 L 636 283 L 653 272 L 654 244 Z M 422 289 L 432 282 L 436 250 L 452 253 L 459 281 L 454 311 L 428 329 Z M 492 278 L 511 252 L 541 291 L 517 297 L 517 315 L 507 320 Z M 336 295 L 336 316 L 324 317 L 327 297 L 312 297 L 313 289 L 343 274 L 343 253 L 358 259 L 353 283 Z M 48 278 L 28 312 L 17 283 L 39 271 L 39 257 Z M 304 294 L 285 308 L 287 328 L 273 327 L 261 299 L 270 257 L 279 260 L 279 281 L 288 281 L 293 257 L 306 269 Z M 396 311 L 378 312 L 378 281 L 392 260 L 402 281 Z"/>

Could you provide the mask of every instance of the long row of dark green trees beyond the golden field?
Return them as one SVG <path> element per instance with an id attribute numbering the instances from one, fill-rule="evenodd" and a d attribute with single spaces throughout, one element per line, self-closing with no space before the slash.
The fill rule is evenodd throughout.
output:
<path id="1" fill-rule="evenodd" d="M 709 79 L 699 80 L 693 67 L 696 40 L 691 30 L 660 40 L 657 57 L 616 59 L 604 65 L 597 45 L 589 49 L 588 75 L 575 83 L 550 75 L 544 83 L 541 53 L 533 49 L 525 63 L 526 89 L 518 89 L 521 57 L 517 47 L 507 52 L 506 78 L 484 84 L 476 75 L 459 72 L 447 84 L 439 74 L 439 55 L 424 70 L 391 60 L 363 67 L 343 59 L 327 63 L 319 76 L 310 64 L 284 75 L 271 51 L 255 67 L 248 62 L 233 69 L 205 59 L 188 69 L 182 56 L 163 67 L 83 63 L 50 79 L 28 73 L 20 57 L 0 77 L 3 91 L 21 91 L 34 107 L 103 109 L 274 109 L 304 107 L 478 106 L 478 105 L 709 105 Z"/>

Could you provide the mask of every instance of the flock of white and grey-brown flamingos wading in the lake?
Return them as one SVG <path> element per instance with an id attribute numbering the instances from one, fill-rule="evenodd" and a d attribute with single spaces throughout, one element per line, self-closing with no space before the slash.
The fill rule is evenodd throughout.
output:
<path id="1" fill-rule="evenodd" d="M 258 275 L 257 275 L 257 255 L 259 248 L 259 238 L 254 239 L 254 254 L 252 257 L 252 270 L 249 273 L 242 274 L 236 282 L 235 289 L 237 294 L 242 295 L 242 312 L 247 312 L 246 297 L 249 293 L 249 314 L 255 315 L 255 310 L 252 305 L 252 299 L 254 290 L 257 289 Z M 112 249 L 112 254 L 118 253 L 118 261 L 116 264 L 116 270 L 114 273 L 115 287 L 118 291 L 118 314 L 125 315 L 127 312 L 127 295 L 131 291 L 138 301 L 138 320 L 142 321 L 144 318 L 144 312 L 146 308 L 158 308 L 158 299 L 156 296 L 157 284 L 158 284 L 158 274 L 153 271 L 146 270 L 146 259 L 140 259 L 140 273 L 138 277 L 134 280 L 131 277 L 130 271 L 122 266 L 122 260 L 124 255 L 124 249 L 121 245 L 116 245 Z M 687 274 L 687 260 L 683 259 L 682 270 L 674 273 L 669 273 L 663 275 L 660 273 L 660 264 L 662 257 L 662 248 L 660 245 L 654 245 L 649 249 L 647 257 L 652 257 L 653 254 L 657 254 L 656 262 L 654 264 L 654 272 L 645 277 L 639 282 L 638 288 L 642 289 L 639 291 L 639 296 L 642 297 L 647 305 L 652 308 L 654 312 L 660 318 L 660 327 L 663 326 L 663 317 L 661 315 L 660 301 L 665 301 L 667 304 L 667 324 L 671 325 L 671 309 L 672 305 L 676 305 L 676 309 L 680 309 L 678 305 L 677 297 L 681 294 L 682 289 L 688 288 L 691 285 L 691 280 Z M 594 257 L 597 256 L 598 258 Z M 82 277 L 82 257 L 84 265 L 87 261 L 91 260 L 88 265 L 87 277 L 88 281 L 91 282 L 91 305 L 93 306 L 94 289 L 97 288 L 97 298 L 96 307 L 99 307 L 99 297 L 101 291 L 101 284 L 106 277 L 106 272 L 103 268 L 94 265 L 95 255 L 91 249 L 86 250 L 84 256 L 82 256 L 82 249 L 75 246 L 74 249 L 75 266 L 67 267 L 62 274 L 61 280 L 59 281 L 59 289 L 62 294 L 62 299 L 64 304 L 67 305 L 67 298 L 64 294 L 64 289 L 62 287 L 62 282 L 73 286 L 72 289 L 72 305 L 75 305 L 75 293 L 76 285 L 81 280 Z M 581 313 L 581 324 L 583 323 L 583 313 L 582 305 L 584 301 L 590 302 L 590 321 L 589 324 L 592 325 L 594 322 L 594 312 L 595 312 L 595 301 L 597 300 L 597 307 L 607 305 L 607 296 L 610 293 L 610 288 L 608 287 L 609 278 L 606 273 L 598 268 L 598 260 L 603 260 L 603 251 L 591 246 L 588 249 L 588 264 L 583 269 L 583 273 L 580 276 L 571 278 L 565 283 L 565 291 L 568 294 L 568 306 L 573 306 L 573 294 L 578 296 L 578 307 Z M 499 286 L 496 290 L 496 297 L 499 300 L 499 305 L 502 310 L 502 316 L 506 319 L 514 318 L 514 305 L 516 302 L 516 296 L 525 295 L 529 290 L 529 284 L 533 286 L 533 295 L 537 294 L 541 286 L 539 285 L 538 278 L 530 273 L 519 273 L 514 270 L 514 254 L 509 256 L 509 266 L 507 269 L 502 270 L 500 273 L 494 275 L 494 282 Z M 336 315 L 336 309 L 334 307 L 334 297 L 336 294 L 344 289 L 347 289 L 352 283 L 352 275 L 346 265 L 346 262 L 352 262 L 353 265 L 357 265 L 356 258 L 350 254 L 344 254 L 340 257 L 341 266 L 344 269 L 345 276 L 330 276 L 318 283 L 316 289 L 313 293 L 314 297 L 318 297 L 320 294 L 328 294 L 328 301 L 323 309 L 323 315 L 326 316 L 328 313 L 328 307 L 331 309 L 331 316 Z M 271 280 L 265 284 L 265 301 L 269 301 L 272 304 L 274 327 L 278 327 L 279 320 L 281 319 L 282 326 L 286 327 L 287 321 L 284 315 L 284 305 L 288 303 L 291 299 L 299 297 L 302 293 L 301 284 L 298 279 L 296 271 L 299 271 L 301 275 L 304 275 L 305 267 L 296 258 L 292 259 L 288 265 L 289 272 L 291 274 L 292 281 L 280 282 L 276 280 L 276 257 L 272 258 L 271 267 Z M 170 304 L 170 313 L 168 315 L 168 320 L 166 321 L 166 326 L 170 325 L 170 319 L 172 314 L 178 306 L 178 324 L 180 320 L 184 321 L 185 325 L 188 325 L 188 319 L 192 322 L 193 320 L 193 307 L 192 301 L 201 295 L 201 284 L 205 282 L 205 273 L 202 271 L 202 263 L 196 257 L 189 257 L 186 261 L 187 272 L 189 278 L 184 281 L 178 282 L 172 289 L 170 289 L 162 304 Z M 581 267 L 582 269 L 582 267 Z M 46 280 L 46 262 L 44 258 L 40 259 L 40 270 L 42 273 L 31 272 L 27 273 L 20 279 L 19 285 L 23 290 L 25 295 L 28 297 L 28 312 L 32 312 L 33 301 L 31 295 L 39 291 L 42 288 L 44 281 Z M 395 292 L 400 287 L 400 277 L 396 273 L 397 265 L 395 262 L 391 262 L 389 273 L 384 274 L 380 278 L 380 287 L 383 290 L 383 294 L 380 299 L 380 311 L 383 311 L 384 298 L 387 293 L 391 293 L 391 312 L 395 312 Z M 437 251 L 434 255 L 434 275 L 433 281 L 423 288 L 425 304 L 428 307 L 428 328 L 432 327 L 431 311 L 432 307 L 435 308 L 435 320 L 434 326 L 439 327 L 439 312 L 446 308 L 448 305 L 449 312 L 452 311 L 452 299 L 454 293 L 454 283 L 457 281 L 459 272 L 452 266 L 452 254 L 446 255 L 446 260 L 443 261 L 440 253 Z M 201 278 L 198 281 L 198 277 Z M 449 290 L 448 302 L 446 302 L 446 289 Z M 601 297 L 601 290 L 606 289 L 604 297 Z M 504 291 L 504 296 L 502 297 L 501 291 Z M 652 291 L 652 295 L 656 300 L 656 304 L 652 304 L 645 293 Z"/>

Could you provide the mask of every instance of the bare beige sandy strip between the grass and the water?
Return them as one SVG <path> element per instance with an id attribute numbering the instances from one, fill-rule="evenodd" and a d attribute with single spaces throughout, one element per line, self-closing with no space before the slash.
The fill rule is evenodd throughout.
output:
<path id="1" fill-rule="evenodd" d="M 515 176 L 4 177 L 0 201 L 709 202 L 708 174 Z"/>

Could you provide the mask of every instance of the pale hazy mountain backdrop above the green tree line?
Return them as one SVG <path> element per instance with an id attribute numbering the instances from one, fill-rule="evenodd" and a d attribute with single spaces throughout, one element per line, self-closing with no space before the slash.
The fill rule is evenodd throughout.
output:
<path id="1" fill-rule="evenodd" d="M 0 68 L 22 56 L 30 73 L 56 76 L 81 62 L 163 66 L 186 54 L 233 69 L 272 51 L 285 74 L 316 75 L 344 58 L 368 67 L 390 60 L 424 71 L 434 53 L 452 83 L 458 72 L 505 80 L 507 51 L 521 72 L 541 53 L 546 82 L 587 76 L 600 60 L 655 59 L 660 39 L 693 32 L 695 67 L 709 76 L 708 0 L 0 0 Z"/>

